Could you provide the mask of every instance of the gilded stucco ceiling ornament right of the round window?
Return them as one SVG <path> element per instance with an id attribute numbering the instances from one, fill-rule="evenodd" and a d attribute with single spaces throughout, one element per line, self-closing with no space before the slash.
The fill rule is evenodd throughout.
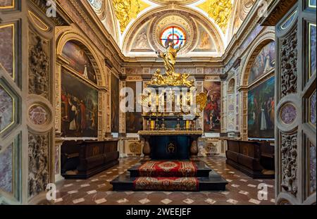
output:
<path id="1" fill-rule="evenodd" d="M 198 7 L 208 13 L 221 30 L 226 32 L 232 13 L 231 0 L 207 0 Z"/>

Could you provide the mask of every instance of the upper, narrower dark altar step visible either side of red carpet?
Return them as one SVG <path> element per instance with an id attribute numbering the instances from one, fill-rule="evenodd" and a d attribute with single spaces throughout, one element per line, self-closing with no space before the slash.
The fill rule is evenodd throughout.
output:
<path id="1" fill-rule="evenodd" d="M 139 163 L 128 170 L 130 172 L 130 177 L 140 177 L 139 168 L 144 163 Z M 197 166 L 197 172 L 194 173 L 194 177 L 209 177 L 209 173 L 211 172 L 211 168 L 209 168 L 206 163 L 203 161 L 194 161 L 194 164 Z M 191 174 L 189 174 L 191 175 Z M 156 175 L 156 177 L 164 177 L 164 175 Z"/>

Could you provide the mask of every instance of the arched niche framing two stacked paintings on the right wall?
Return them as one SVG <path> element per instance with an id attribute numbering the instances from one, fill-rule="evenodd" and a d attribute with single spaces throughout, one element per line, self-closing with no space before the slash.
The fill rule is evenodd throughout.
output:
<path id="1" fill-rule="evenodd" d="M 249 80 L 250 75 L 254 74 L 254 69 L 260 69 L 259 66 L 256 66 L 260 60 L 262 62 L 260 63 L 261 69 L 266 65 L 268 57 L 261 58 L 260 56 L 266 54 L 263 50 L 266 49 L 266 46 L 273 44 L 274 40 L 275 35 L 273 31 L 264 32 L 262 35 L 259 35 L 251 44 L 246 58 L 247 61 L 242 67 L 240 80 L 242 121 L 240 132 L 244 140 L 249 138 L 274 138 L 274 61 L 271 68 L 259 74 L 258 77 L 253 77 Z M 273 55 L 271 57 L 273 58 Z M 264 89 L 268 89 L 268 91 L 262 92 Z M 251 113 L 252 111 L 253 113 Z M 254 130 L 249 132 L 251 127 Z M 268 131 L 266 132 L 266 130 Z"/>

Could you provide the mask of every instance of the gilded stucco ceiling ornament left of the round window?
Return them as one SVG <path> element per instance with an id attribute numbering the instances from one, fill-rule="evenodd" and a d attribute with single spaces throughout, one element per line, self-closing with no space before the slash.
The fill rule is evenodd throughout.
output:
<path id="1" fill-rule="evenodd" d="M 149 7 L 142 0 L 113 0 L 112 4 L 116 12 L 116 18 L 120 23 L 121 33 L 125 31 L 125 28 L 133 18 L 137 18 L 141 11 Z"/>

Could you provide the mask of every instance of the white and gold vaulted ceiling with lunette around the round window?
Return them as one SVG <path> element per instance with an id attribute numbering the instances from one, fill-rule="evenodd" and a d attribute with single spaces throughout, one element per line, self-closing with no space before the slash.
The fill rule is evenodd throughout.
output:
<path id="1" fill-rule="evenodd" d="M 183 57 L 223 54 L 256 0 L 87 0 L 125 56 L 155 56 L 163 34 Z M 170 30 L 174 30 L 173 28 Z"/>

